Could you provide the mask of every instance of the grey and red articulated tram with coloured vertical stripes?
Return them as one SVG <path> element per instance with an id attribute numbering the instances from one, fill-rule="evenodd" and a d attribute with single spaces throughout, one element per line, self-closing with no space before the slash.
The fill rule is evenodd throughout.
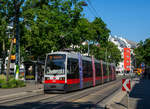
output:
<path id="1" fill-rule="evenodd" d="M 79 90 L 116 79 L 113 63 L 70 52 L 47 54 L 44 72 L 45 93 Z"/>

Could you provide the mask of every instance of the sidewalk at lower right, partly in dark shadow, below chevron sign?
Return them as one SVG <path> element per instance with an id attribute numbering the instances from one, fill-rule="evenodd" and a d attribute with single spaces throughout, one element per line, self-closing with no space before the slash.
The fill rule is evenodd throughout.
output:
<path id="1" fill-rule="evenodd" d="M 128 104 L 128 97 L 125 95 L 121 100 L 114 101 L 109 109 L 150 109 L 150 80 L 136 79 Z M 117 95 L 118 98 L 120 95 Z"/>

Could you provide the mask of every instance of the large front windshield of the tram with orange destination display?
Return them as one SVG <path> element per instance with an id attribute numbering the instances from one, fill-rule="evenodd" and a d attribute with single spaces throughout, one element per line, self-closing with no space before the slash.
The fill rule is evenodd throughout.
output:
<path id="1" fill-rule="evenodd" d="M 65 59 L 64 54 L 53 54 L 48 55 L 46 61 L 46 72 L 47 75 L 61 75 L 65 73 Z"/>

